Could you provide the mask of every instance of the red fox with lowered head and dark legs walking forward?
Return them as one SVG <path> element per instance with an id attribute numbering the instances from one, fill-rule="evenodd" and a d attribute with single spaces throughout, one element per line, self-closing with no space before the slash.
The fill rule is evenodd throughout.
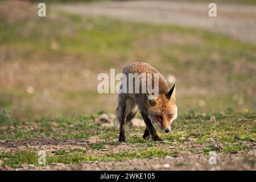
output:
<path id="1" fill-rule="evenodd" d="M 158 70 L 150 64 L 142 61 L 135 61 L 123 68 L 123 74 L 129 76 L 129 73 L 147 74 L 158 73 L 159 88 L 158 98 L 148 100 L 148 92 L 146 93 L 119 93 L 118 106 L 116 110 L 116 119 L 120 124 L 119 142 L 125 142 L 125 124 L 130 122 L 139 109 L 142 118 L 146 124 L 143 138 L 150 139 L 150 135 L 154 141 L 162 141 L 158 137 L 154 128 L 154 123 L 158 123 L 163 132 L 171 131 L 171 123 L 177 118 L 177 106 L 175 100 L 175 85 L 171 89 L 168 88 L 166 78 L 160 74 Z M 152 78 L 153 79 L 153 78 Z M 127 84 L 129 81 L 127 81 Z M 154 86 L 154 84 L 152 84 Z M 121 85 L 121 88 L 123 83 Z M 139 84 L 141 87 L 141 84 Z M 142 88 L 140 88 L 142 90 Z"/>

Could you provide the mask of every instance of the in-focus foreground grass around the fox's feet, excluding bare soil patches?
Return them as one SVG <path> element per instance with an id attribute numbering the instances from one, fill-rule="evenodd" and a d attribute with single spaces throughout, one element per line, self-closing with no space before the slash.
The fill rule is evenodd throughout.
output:
<path id="1" fill-rule="evenodd" d="M 134 132 L 142 135 L 144 129 L 128 127 L 126 129 L 126 147 L 117 152 L 113 151 L 113 148 L 119 146 L 116 141 L 118 130 L 114 127 L 105 128 L 95 125 L 93 122 L 93 118 L 102 112 L 93 115 L 81 115 L 76 118 L 35 119 L 35 121 L 28 121 L 24 125 L 24 121 L 15 120 L 16 122 L 13 122 L 13 118 L 6 111 L 4 114 L 7 121 L 2 121 L 0 135 L 1 139 L 35 137 L 77 140 L 98 137 L 101 139 L 89 144 L 86 148 L 58 146 L 51 155 L 47 154 L 47 165 L 52 163 L 108 162 L 149 157 L 163 158 L 183 151 L 190 151 L 191 154 L 208 155 L 210 151 L 233 153 L 253 149 L 253 143 L 256 141 L 255 113 L 248 111 L 236 113 L 232 109 L 228 109 L 226 113 L 225 115 L 218 112 L 202 113 L 196 110 L 181 113 L 172 124 L 170 134 L 163 134 L 158 131 L 164 142 L 153 142 L 152 139 L 144 140 L 141 136 L 133 135 Z M 216 117 L 216 123 L 209 120 L 213 115 Z M 2 115 L 0 117 L 3 118 Z M 29 130 L 32 126 L 34 129 Z M 0 152 L 0 160 L 4 165 L 14 168 L 21 164 L 38 166 L 38 150 L 25 148 L 16 152 L 2 151 Z M 98 151 L 103 153 L 98 153 Z"/>

